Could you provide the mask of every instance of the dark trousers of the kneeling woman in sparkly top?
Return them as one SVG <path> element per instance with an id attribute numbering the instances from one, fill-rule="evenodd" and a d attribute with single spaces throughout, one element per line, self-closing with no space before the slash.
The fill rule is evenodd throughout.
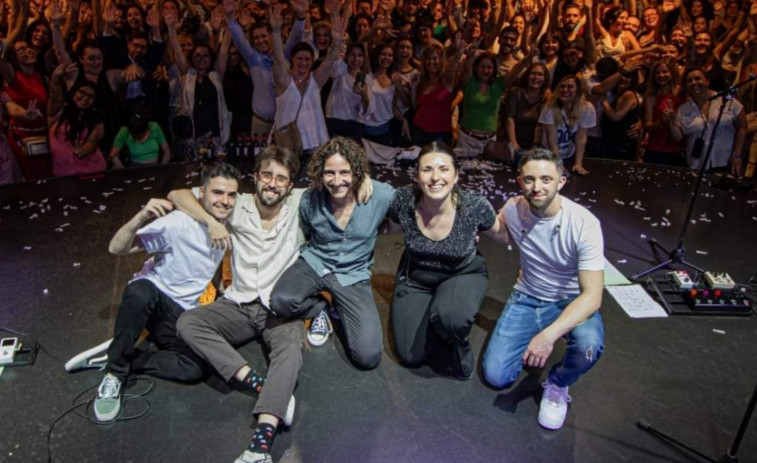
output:
<path id="1" fill-rule="evenodd" d="M 440 342 L 452 346 L 452 371 L 469 377 L 475 368 L 468 335 L 484 301 L 488 281 L 486 262 L 476 255 L 456 273 L 413 269 L 402 256 L 394 286 L 392 330 L 400 362 L 416 367 Z"/>

